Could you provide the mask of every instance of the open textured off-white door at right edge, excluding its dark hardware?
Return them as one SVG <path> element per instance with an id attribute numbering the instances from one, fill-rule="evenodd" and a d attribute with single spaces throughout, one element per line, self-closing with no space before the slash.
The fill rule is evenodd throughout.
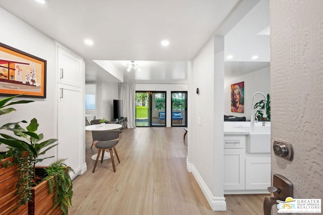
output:
<path id="1" fill-rule="evenodd" d="M 272 142 L 294 147 L 289 162 L 272 153 L 272 174 L 294 184 L 294 198 L 322 198 L 323 2 L 271 1 Z"/>

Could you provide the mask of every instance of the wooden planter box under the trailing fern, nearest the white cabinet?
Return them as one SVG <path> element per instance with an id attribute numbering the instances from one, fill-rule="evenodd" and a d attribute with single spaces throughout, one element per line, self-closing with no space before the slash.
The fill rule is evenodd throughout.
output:
<path id="1" fill-rule="evenodd" d="M 36 167 L 43 169 L 46 167 Z M 28 214 L 62 214 L 61 206 L 54 206 L 55 187 L 52 188 L 52 193 L 49 194 L 48 181 L 43 181 L 35 187 L 31 188 L 31 201 L 28 202 Z"/>

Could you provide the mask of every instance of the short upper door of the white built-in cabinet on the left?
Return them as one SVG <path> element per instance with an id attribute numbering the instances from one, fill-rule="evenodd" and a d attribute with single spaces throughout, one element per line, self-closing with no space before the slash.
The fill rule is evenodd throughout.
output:
<path id="1" fill-rule="evenodd" d="M 57 46 L 58 83 L 81 87 L 84 74 L 82 60 Z"/>

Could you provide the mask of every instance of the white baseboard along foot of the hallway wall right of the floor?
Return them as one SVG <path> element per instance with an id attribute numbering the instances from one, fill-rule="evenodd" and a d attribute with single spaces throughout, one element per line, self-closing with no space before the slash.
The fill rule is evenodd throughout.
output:
<path id="1" fill-rule="evenodd" d="M 206 184 L 204 183 L 202 177 L 199 175 L 198 171 L 195 169 L 194 165 L 188 162 L 188 157 L 186 157 L 186 168 L 187 171 L 192 173 L 198 185 L 200 186 L 208 204 L 214 211 L 225 211 L 227 210 L 226 198 L 213 196 Z"/>

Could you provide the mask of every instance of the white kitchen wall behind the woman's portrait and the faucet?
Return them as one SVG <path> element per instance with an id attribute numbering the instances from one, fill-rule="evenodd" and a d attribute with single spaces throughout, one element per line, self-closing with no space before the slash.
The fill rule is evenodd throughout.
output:
<path id="1" fill-rule="evenodd" d="M 263 92 L 265 95 L 270 93 L 270 67 L 253 71 L 245 75 L 225 79 L 224 81 L 224 114 L 237 117 L 246 117 L 250 121 L 251 117 L 251 102 L 252 95 L 255 92 Z M 231 112 L 231 84 L 244 81 L 244 113 Z M 254 98 L 254 103 L 263 99 L 263 96 L 257 94 Z"/>

